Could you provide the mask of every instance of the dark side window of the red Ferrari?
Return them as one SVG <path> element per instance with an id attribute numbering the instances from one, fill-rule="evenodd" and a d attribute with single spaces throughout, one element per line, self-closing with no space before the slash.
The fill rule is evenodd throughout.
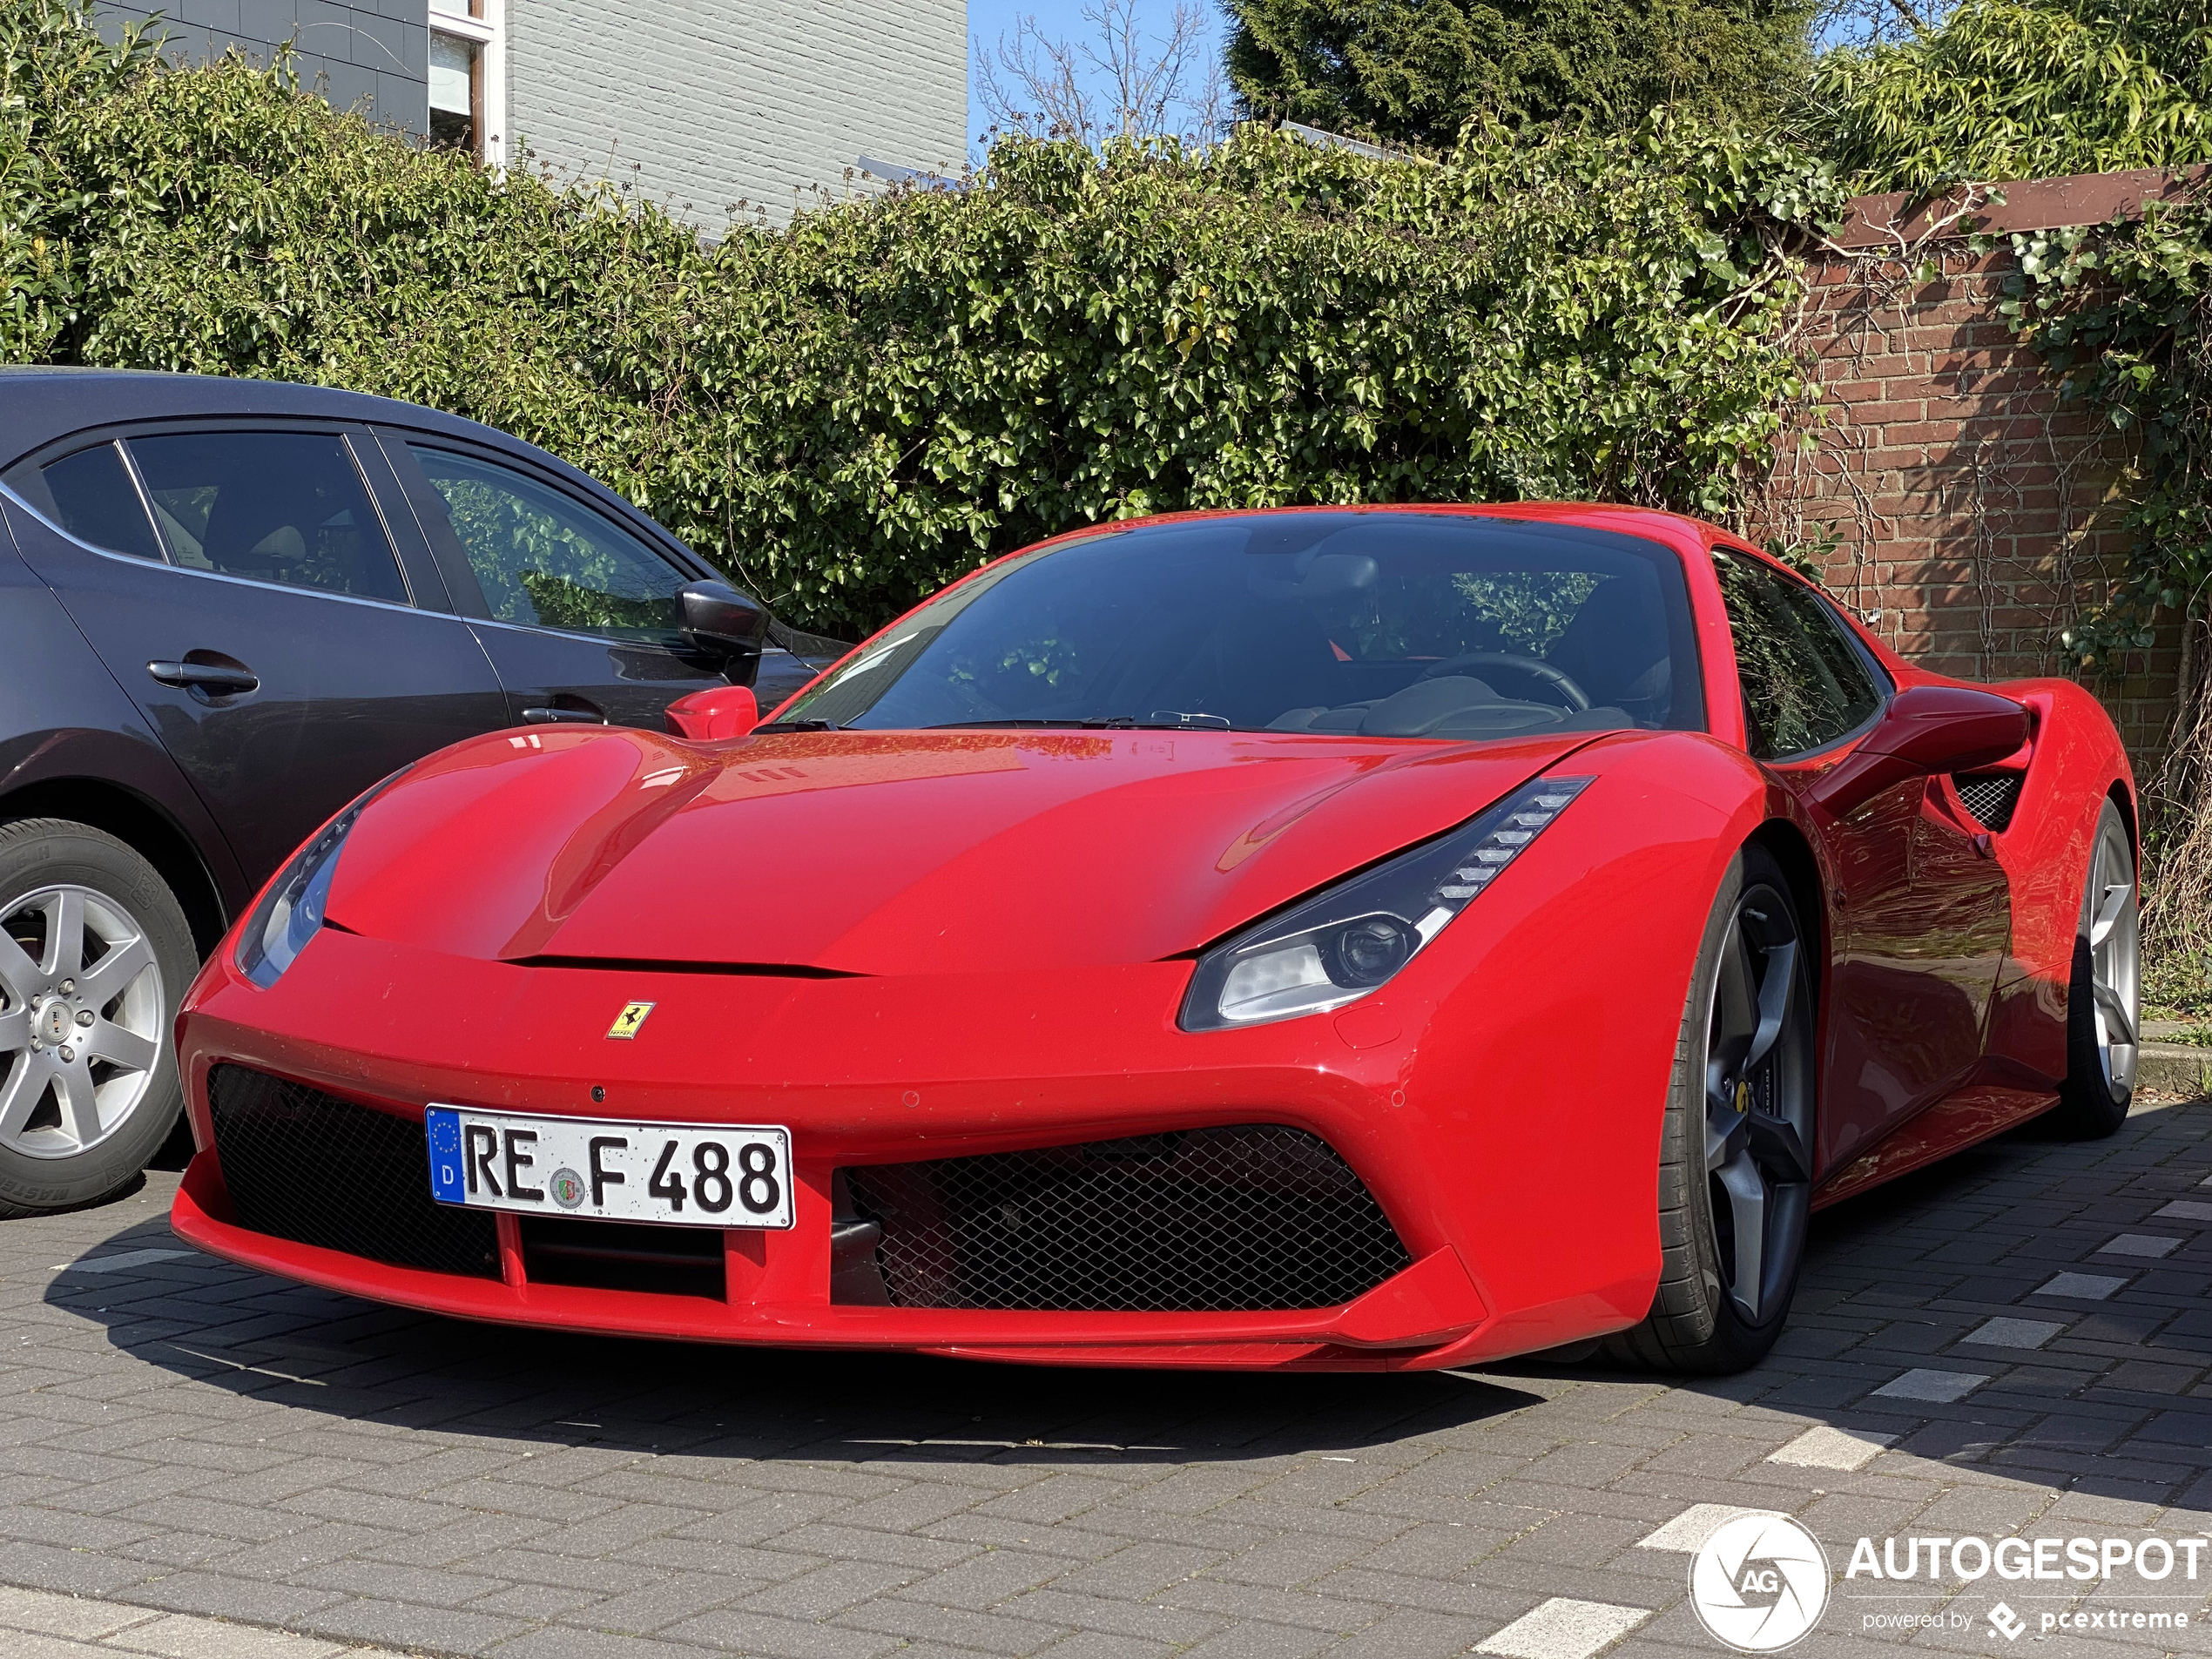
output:
<path id="1" fill-rule="evenodd" d="M 1752 754 L 1805 754 L 1874 717 L 1882 692 L 1812 588 L 1719 549 L 1712 566 L 1736 639 Z"/>

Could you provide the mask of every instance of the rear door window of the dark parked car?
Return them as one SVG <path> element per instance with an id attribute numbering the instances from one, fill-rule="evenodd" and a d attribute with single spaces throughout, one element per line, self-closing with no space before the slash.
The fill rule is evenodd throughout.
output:
<path id="1" fill-rule="evenodd" d="M 161 540 L 186 571 L 407 604 L 338 434 L 192 431 L 128 445 Z"/>

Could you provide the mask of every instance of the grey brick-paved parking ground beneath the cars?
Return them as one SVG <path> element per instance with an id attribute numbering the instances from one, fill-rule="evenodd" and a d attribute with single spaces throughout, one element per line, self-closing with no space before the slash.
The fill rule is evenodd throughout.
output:
<path id="1" fill-rule="evenodd" d="M 0 1582 L 122 1604 L 75 1630 L 0 1593 L 0 1652 L 276 1655 L 212 1617 L 316 1655 L 1714 1655 L 1686 1551 L 1734 1506 L 1803 1517 L 1838 1573 L 1863 1533 L 2205 1533 L 2208 1133 L 2212 1104 L 2141 1108 L 1829 1212 L 1781 1354 L 1688 1387 L 493 1332 L 184 1252 L 157 1175 L 0 1223 Z M 1966 1628 L 1913 1641 L 2006 1652 L 2000 1588 L 2031 1619 L 2081 1590 L 1916 1588 L 1838 1584 L 1796 1652 L 1947 1604 Z M 2212 1652 L 2212 1559 L 2152 1588 L 2188 1635 L 2033 1652 Z"/>

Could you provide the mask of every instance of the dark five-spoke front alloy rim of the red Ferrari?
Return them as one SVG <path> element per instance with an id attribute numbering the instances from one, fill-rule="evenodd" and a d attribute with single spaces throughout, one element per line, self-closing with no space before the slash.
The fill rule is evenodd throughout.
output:
<path id="1" fill-rule="evenodd" d="M 1778 891 L 1747 887 L 1721 936 L 1705 1022 L 1705 1177 L 1714 1261 L 1752 1325 L 1787 1292 L 1812 1194 L 1805 973 Z"/>

